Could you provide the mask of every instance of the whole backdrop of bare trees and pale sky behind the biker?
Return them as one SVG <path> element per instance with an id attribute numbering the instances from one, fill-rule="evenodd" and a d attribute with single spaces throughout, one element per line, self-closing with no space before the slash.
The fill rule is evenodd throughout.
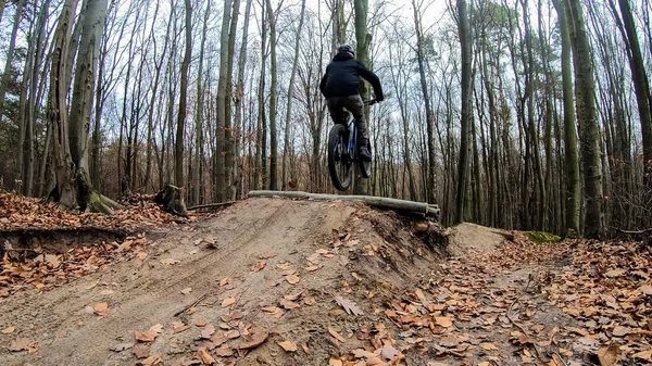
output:
<path id="1" fill-rule="evenodd" d="M 378 74 L 355 193 L 443 224 L 652 227 L 649 0 L 0 0 L 0 188 L 111 212 L 184 189 L 334 192 L 318 91 Z M 368 96 L 368 88 L 363 92 Z"/>

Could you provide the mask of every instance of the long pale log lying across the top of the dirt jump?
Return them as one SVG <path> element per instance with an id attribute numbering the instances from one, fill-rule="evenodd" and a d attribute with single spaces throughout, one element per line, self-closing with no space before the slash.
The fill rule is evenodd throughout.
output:
<path id="1" fill-rule="evenodd" d="M 425 214 L 426 216 L 431 216 L 436 218 L 439 217 L 439 206 L 437 204 L 428 204 L 424 202 L 397 200 L 374 195 L 338 195 L 324 193 L 306 193 L 301 191 L 250 191 L 249 197 L 285 197 L 292 199 L 362 201 L 375 207 L 421 213 Z"/>

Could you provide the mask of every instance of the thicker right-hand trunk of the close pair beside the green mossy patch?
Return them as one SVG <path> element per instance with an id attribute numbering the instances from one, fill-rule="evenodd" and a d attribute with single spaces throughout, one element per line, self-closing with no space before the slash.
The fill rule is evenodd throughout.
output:
<path id="1" fill-rule="evenodd" d="M 591 46 L 587 34 L 581 3 L 566 0 L 568 28 L 575 63 L 575 98 L 579 122 L 580 153 L 584 166 L 585 195 L 587 211 L 585 236 L 600 238 L 604 235 L 604 213 L 602 192 L 602 165 L 600 161 L 600 129 L 595 116 L 595 81 Z"/>

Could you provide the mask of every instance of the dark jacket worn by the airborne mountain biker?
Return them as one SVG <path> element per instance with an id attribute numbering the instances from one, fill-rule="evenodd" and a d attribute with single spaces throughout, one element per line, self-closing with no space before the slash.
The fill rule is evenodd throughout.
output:
<path id="1" fill-rule="evenodd" d="M 372 84 L 376 99 L 381 101 L 383 87 L 378 76 L 347 52 L 338 52 L 326 66 L 319 90 L 326 98 L 359 94 L 360 76 Z"/>

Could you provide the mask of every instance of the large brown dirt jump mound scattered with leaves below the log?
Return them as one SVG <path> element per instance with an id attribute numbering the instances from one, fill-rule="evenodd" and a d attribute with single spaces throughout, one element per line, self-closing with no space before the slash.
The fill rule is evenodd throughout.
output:
<path id="1" fill-rule="evenodd" d="M 147 256 L 1 300 L 0 328 L 15 330 L 0 365 L 328 365 L 365 348 L 425 365 L 385 314 L 441 277 L 443 248 L 412 224 L 360 203 L 250 199 L 160 228 Z M 11 352 L 16 339 L 32 353 Z"/>

